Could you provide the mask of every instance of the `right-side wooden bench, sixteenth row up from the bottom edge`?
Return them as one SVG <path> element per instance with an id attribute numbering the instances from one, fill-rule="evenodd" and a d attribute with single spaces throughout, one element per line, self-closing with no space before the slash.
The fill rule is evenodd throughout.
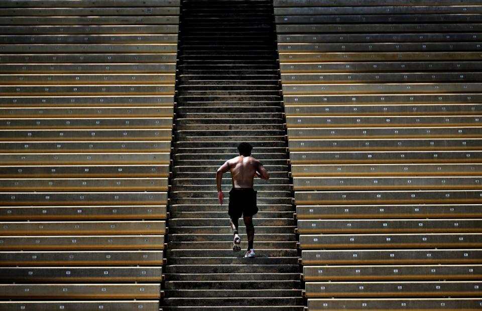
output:
<path id="1" fill-rule="evenodd" d="M 392 105 L 392 104 L 469 104 L 478 103 L 482 95 L 470 94 L 382 94 L 382 95 L 285 95 L 286 106 L 293 105 Z M 1 98 L 0 98 L 1 103 Z"/>

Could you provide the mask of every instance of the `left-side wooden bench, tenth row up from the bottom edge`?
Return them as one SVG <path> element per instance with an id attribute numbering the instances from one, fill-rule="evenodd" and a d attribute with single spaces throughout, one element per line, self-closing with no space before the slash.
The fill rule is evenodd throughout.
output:
<path id="1" fill-rule="evenodd" d="M 169 177 L 168 165 L 0 166 L 2 178 Z"/>

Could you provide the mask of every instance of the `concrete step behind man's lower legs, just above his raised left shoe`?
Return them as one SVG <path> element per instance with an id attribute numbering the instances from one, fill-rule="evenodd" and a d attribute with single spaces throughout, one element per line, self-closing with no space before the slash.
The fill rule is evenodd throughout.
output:
<path id="1" fill-rule="evenodd" d="M 221 218 L 228 218 L 227 216 L 227 209 L 225 212 L 220 212 L 222 217 Z M 260 213 L 258 213 L 260 214 Z M 255 215 L 254 222 L 257 223 L 258 219 L 261 217 L 257 217 Z M 178 218 L 175 218 L 178 219 Z M 227 225 L 226 225 L 227 224 Z M 232 230 L 229 227 L 229 221 L 226 221 L 224 226 L 170 226 L 169 227 L 169 234 L 231 234 Z M 256 225 L 255 232 L 256 234 L 293 234 L 295 232 L 295 226 L 260 226 Z M 239 233 L 246 234 L 246 227 L 243 223 L 243 220 L 239 220 Z M 246 239 L 245 239 L 246 240 Z"/>

